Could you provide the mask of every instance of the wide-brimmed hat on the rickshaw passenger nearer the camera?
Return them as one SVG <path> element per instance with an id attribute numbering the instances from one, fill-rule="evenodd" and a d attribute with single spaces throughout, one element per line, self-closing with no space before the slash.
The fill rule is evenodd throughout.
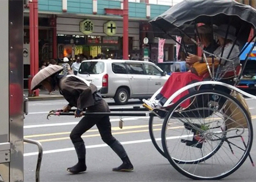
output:
<path id="1" fill-rule="evenodd" d="M 228 27 L 228 25 L 226 25 L 226 24 L 219 25 L 218 28 L 214 29 L 214 33 L 218 36 L 225 38 L 226 32 L 227 32 L 227 27 Z M 229 26 L 229 32 L 227 34 L 227 39 L 230 39 L 232 41 L 236 40 L 236 28 L 231 25 Z"/>

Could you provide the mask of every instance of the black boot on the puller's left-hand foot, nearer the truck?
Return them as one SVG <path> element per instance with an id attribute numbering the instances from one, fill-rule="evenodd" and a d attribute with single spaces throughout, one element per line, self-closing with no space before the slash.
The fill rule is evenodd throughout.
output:
<path id="1" fill-rule="evenodd" d="M 74 143 L 76 154 L 78 156 L 78 163 L 75 166 L 68 167 L 67 171 L 69 173 L 77 174 L 86 171 L 85 164 L 85 146 L 83 142 Z"/>

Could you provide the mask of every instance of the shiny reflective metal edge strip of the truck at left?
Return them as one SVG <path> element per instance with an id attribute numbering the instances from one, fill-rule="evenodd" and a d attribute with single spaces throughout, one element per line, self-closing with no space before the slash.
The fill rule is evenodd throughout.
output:
<path id="1" fill-rule="evenodd" d="M 9 0 L 10 181 L 23 181 L 23 1 Z M 7 44 L 8 45 L 8 44 Z"/>

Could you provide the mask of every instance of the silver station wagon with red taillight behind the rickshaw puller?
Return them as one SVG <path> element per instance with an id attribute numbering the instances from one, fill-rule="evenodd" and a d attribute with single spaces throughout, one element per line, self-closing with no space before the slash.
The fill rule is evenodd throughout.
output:
<path id="1" fill-rule="evenodd" d="M 97 86 L 102 96 L 126 104 L 129 98 L 150 98 L 169 78 L 151 62 L 132 60 L 85 60 L 78 76 Z"/>

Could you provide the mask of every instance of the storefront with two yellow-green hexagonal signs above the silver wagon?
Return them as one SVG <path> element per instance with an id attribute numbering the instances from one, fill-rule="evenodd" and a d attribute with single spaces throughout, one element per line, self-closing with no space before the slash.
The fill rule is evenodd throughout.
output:
<path id="1" fill-rule="evenodd" d="M 58 59 L 74 58 L 77 54 L 122 59 L 122 35 L 122 21 L 57 17 Z M 130 21 L 129 54 L 132 56 L 139 46 L 139 22 Z"/>

